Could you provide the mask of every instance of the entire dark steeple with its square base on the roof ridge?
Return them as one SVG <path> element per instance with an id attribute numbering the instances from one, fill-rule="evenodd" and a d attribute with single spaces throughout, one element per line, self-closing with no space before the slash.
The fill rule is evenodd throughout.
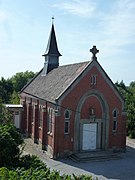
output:
<path id="1" fill-rule="evenodd" d="M 44 63 L 44 69 L 42 75 L 46 75 L 54 68 L 57 68 L 59 66 L 59 56 L 62 56 L 58 50 L 53 20 L 54 17 L 52 17 L 52 27 L 51 27 L 51 32 L 47 43 L 46 51 L 42 55 L 45 57 L 45 63 Z"/>

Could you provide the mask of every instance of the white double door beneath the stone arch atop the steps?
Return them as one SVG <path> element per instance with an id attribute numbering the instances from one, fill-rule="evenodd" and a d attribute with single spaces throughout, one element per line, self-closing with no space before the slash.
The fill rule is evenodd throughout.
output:
<path id="1" fill-rule="evenodd" d="M 95 150 L 97 143 L 97 123 L 83 124 L 82 150 Z"/>

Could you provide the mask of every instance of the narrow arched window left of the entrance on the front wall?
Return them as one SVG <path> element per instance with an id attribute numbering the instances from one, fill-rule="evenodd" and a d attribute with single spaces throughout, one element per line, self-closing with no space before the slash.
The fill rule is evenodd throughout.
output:
<path id="1" fill-rule="evenodd" d="M 70 128 L 70 111 L 69 110 L 65 110 L 64 117 L 65 117 L 64 134 L 69 134 L 69 128 Z"/>

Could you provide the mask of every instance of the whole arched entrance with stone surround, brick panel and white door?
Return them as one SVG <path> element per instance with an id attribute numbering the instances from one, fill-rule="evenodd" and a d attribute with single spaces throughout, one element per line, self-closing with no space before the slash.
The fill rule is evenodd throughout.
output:
<path id="1" fill-rule="evenodd" d="M 104 96 L 89 91 L 80 99 L 74 124 L 74 151 L 107 149 L 109 109 Z"/>

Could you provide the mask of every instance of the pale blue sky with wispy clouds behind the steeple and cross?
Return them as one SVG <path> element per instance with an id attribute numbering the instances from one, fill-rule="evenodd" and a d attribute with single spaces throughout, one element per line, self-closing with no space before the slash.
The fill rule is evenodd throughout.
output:
<path id="1" fill-rule="evenodd" d="M 113 82 L 135 81 L 134 0 L 0 0 L 0 77 L 38 72 L 55 17 L 60 65 L 99 63 Z"/>

